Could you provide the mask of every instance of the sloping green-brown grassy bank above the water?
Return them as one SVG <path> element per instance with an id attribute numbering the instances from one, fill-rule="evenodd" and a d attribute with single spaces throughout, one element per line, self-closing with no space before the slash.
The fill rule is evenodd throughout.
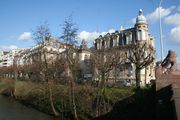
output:
<path id="1" fill-rule="evenodd" d="M 1 80 L 0 89 L 14 85 L 15 98 L 26 105 L 30 105 L 42 112 L 52 114 L 52 110 L 49 103 L 49 95 L 47 90 L 47 84 L 34 83 L 30 81 L 19 81 L 12 84 L 12 80 Z M 100 89 L 92 87 L 90 85 L 76 85 L 74 88 L 75 101 L 78 111 L 78 116 L 81 119 L 92 119 L 94 116 L 94 102 L 96 101 L 97 93 Z M 70 89 L 67 85 L 52 85 L 53 101 L 55 108 L 63 114 L 64 117 L 69 116 L 72 113 L 72 105 L 70 102 Z M 134 94 L 131 88 L 118 88 L 107 87 L 105 89 L 105 97 L 111 102 L 111 108 L 113 105 Z"/>

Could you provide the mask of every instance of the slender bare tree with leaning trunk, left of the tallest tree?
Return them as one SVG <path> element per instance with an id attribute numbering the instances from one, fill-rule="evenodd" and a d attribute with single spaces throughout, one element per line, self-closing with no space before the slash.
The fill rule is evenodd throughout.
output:
<path id="1" fill-rule="evenodd" d="M 51 105 L 54 115 L 59 116 L 60 114 L 55 109 L 54 102 L 53 102 L 53 93 L 52 93 L 53 79 L 52 79 L 52 76 L 50 76 L 49 74 L 50 65 L 47 58 L 48 50 L 45 49 L 46 42 L 49 41 L 51 38 L 51 32 L 50 32 L 47 22 L 45 22 L 44 24 L 40 26 L 37 26 L 36 30 L 33 33 L 34 33 L 34 40 L 36 44 L 38 45 L 38 53 L 39 53 L 38 55 L 40 55 L 39 60 L 41 61 L 41 66 L 42 66 L 41 73 L 43 74 L 44 80 L 47 83 L 50 105 Z"/>

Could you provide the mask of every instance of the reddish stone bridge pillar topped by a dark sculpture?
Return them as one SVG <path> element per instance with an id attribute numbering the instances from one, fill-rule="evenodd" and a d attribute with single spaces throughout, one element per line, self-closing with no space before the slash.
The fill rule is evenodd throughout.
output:
<path id="1" fill-rule="evenodd" d="M 163 91 L 169 86 L 170 89 L 163 93 L 163 97 L 159 97 L 159 91 Z M 177 69 L 176 53 L 174 51 L 169 50 L 166 58 L 156 65 L 156 91 L 157 108 L 161 108 L 167 102 L 168 92 L 172 92 L 172 96 L 168 101 L 172 103 L 173 120 L 180 120 L 180 71 Z M 166 107 L 166 105 L 163 106 Z"/>

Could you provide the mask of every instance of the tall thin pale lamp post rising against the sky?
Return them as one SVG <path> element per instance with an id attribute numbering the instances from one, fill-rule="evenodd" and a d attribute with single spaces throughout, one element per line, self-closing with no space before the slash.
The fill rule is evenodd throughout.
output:
<path id="1" fill-rule="evenodd" d="M 163 40 L 162 40 L 162 24 L 161 24 L 161 3 L 163 0 L 159 2 L 159 30 L 160 30 L 160 45 L 161 45 L 161 62 L 163 61 Z"/>

